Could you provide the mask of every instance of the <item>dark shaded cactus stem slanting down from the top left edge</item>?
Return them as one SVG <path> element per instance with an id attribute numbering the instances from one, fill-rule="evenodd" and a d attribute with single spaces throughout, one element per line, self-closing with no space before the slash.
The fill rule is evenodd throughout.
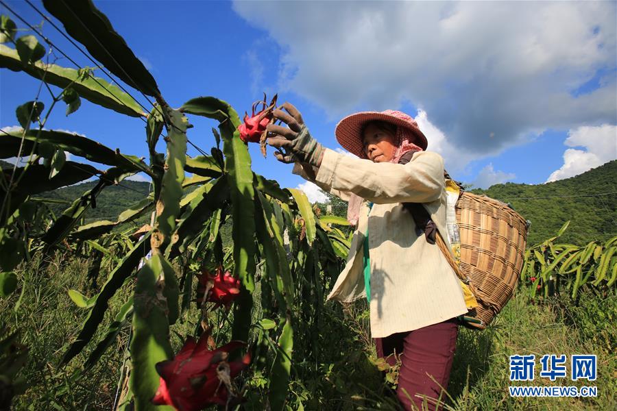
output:
<path id="1" fill-rule="evenodd" d="M 106 69 L 144 94 L 160 95 L 152 74 L 91 0 L 43 0 L 43 5 Z"/>

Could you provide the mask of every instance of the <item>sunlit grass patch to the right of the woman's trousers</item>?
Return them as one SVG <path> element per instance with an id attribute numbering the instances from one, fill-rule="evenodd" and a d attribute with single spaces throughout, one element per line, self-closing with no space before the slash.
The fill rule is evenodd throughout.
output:
<path id="1" fill-rule="evenodd" d="M 590 295 L 585 301 L 593 299 Z M 616 299 L 607 299 L 605 306 L 617 310 Z M 452 366 L 450 395 L 455 398 L 455 410 L 615 410 L 617 409 L 617 358 L 614 345 L 598 344 L 570 323 L 572 310 L 579 318 L 588 321 L 597 312 L 593 306 L 574 306 L 556 298 L 533 301 L 521 290 L 504 308 L 489 329 L 474 332 L 461 329 L 457 341 L 457 353 Z M 586 309 L 586 310 L 585 310 Z M 596 321 L 598 327 L 605 326 Z M 612 338 L 617 335 L 610 324 Z M 598 356 L 598 379 L 595 382 L 569 377 L 557 379 L 540 378 L 540 358 L 544 354 L 566 354 L 567 370 L 570 371 L 571 354 L 596 354 Z M 509 356 L 535 354 L 535 379 L 532 382 L 509 381 Z M 596 398 L 513 398 L 508 386 L 597 386 Z"/>

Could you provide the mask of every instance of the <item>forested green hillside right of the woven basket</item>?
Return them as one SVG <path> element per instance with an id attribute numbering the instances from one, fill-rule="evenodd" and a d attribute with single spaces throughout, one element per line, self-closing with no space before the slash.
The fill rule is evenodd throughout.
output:
<path id="1" fill-rule="evenodd" d="M 582 245 L 617 235 L 617 160 L 557 182 L 496 184 L 470 191 L 510 203 L 531 221 L 527 244 L 554 235 L 568 220 L 559 242 Z"/>

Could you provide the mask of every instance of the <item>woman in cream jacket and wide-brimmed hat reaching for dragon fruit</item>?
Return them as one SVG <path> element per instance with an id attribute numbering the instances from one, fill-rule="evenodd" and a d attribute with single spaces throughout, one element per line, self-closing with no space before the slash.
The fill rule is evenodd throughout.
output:
<path id="1" fill-rule="evenodd" d="M 350 201 L 348 214 L 357 219 L 347 264 L 328 299 L 368 299 L 378 356 L 394 364 L 390 354 L 400 354 L 398 398 L 407 410 L 412 403 L 422 409 L 425 398 L 435 409 L 450 377 L 455 317 L 467 308 L 446 258 L 418 232 L 402 203 L 422 203 L 446 233 L 441 156 L 425 151 L 426 137 L 402 112 L 360 112 L 341 120 L 335 134 L 358 157 L 352 158 L 324 148 L 293 105 L 282 107 L 287 113 L 275 110 L 274 116 L 288 127 L 268 126 L 268 144 L 285 149 L 276 158 L 295 162 L 294 173 Z"/>

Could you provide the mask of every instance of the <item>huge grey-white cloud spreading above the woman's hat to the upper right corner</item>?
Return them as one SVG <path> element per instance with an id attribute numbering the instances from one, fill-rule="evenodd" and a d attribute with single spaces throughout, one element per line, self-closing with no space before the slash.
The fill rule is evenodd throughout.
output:
<path id="1" fill-rule="evenodd" d="M 332 120 L 411 103 L 448 136 L 446 156 L 456 147 L 476 159 L 546 128 L 617 122 L 614 2 L 233 7 L 278 42 L 280 91 L 317 103 Z M 599 88 L 579 90 L 596 75 Z"/>

